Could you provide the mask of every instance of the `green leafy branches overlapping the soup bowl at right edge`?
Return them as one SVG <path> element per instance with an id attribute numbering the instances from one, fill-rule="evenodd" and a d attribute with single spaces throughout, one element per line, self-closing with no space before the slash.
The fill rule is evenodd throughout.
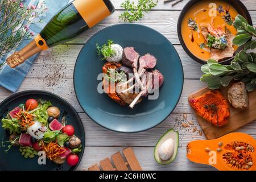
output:
<path id="1" fill-rule="evenodd" d="M 256 48 L 256 40 L 248 42 L 255 35 L 255 28 L 250 26 L 246 19 L 237 15 L 234 21 L 238 35 L 233 39 L 233 44 L 244 48 L 234 57 L 230 65 L 221 65 L 216 60 L 209 59 L 207 64 L 201 67 L 205 73 L 200 80 L 206 82 L 210 89 L 218 89 L 228 86 L 233 80 L 245 82 L 246 89 L 250 92 L 256 89 L 256 53 L 248 52 L 248 49 Z M 247 42 L 247 43 L 246 43 Z"/>

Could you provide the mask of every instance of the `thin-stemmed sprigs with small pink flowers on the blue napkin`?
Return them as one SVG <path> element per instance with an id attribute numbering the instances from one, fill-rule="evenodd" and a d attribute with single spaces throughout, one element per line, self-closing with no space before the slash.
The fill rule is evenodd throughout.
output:
<path id="1" fill-rule="evenodd" d="M 42 22 L 44 2 L 25 6 L 22 0 L 2 0 L 0 6 L 0 57 L 17 48 L 23 39 L 34 36 L 28 24 Z M 35 22 L 36 20 L 36 22 Z M 0 64 L 1 66 L 4 63 Z"/>

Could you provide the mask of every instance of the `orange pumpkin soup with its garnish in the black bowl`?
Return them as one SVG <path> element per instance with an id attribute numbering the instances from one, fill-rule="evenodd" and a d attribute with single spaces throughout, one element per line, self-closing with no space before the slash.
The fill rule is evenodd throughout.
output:
<path id="1" fill-rule="evenodd" d="M 237 49 L 233 27 L 238 12 L 224 1 L 202 1 L 193 5 L 181 24 L 181 35 L 189 51 L 201 60 L 232 57 Z"/>

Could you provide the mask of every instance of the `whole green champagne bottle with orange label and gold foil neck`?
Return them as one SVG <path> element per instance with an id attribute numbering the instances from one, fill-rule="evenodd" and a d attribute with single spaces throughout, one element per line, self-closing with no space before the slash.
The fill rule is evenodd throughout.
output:
<path id="1" fill-rule="evenodd" d="M 8 57 L 6 62 L 15 68 L 36 53 L 76 38 L 113 12 L 114 6 L 109 0 L 75 0 L 53 16 L 34 40 Z"/>

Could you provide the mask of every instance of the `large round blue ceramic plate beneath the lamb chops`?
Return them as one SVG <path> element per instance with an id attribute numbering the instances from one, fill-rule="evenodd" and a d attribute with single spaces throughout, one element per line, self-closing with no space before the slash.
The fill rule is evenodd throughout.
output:
<path id="1" fill-rule="evenodd" d="M 156 69 L 164 76 L 157 100 L 144 99 L 134 109 L 120 106 L 106 94 L 97 92 L 97 80 L 105 61 L 96 52 L 111 39 L 124 47 L 134 47 L 140 54 L 150 53 L 158 60 Z M 134 133 L 148 130 L 164 121 L 174 110 L 183 88 L 183 67 L 174 46 L 159 32 L 139 24 L 117 24 L 104 28 L 88 40 L 77 57 L 74 85 L 77 100 L 99 125 L 113 131 Z"/>

